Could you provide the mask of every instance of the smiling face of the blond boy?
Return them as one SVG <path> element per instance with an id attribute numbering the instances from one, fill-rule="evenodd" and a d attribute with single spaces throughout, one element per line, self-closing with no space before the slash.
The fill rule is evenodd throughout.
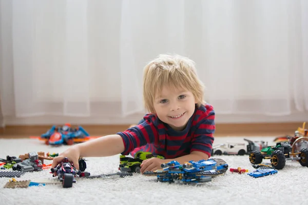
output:
<path id="1" fill-rule="evenodd" d="M 194 114 L 196 103 L 190 91 L 163 86 L 160 95 L 156 94 L 154 109 L 160 120 L 180 131 L 185 129 L 189 118 Z"/>

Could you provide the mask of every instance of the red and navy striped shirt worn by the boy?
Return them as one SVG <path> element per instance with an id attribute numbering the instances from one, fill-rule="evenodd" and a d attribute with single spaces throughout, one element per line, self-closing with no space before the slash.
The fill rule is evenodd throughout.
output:
<path id="1" fill-rule="evenodd" d="M 156 114 L 146 114 L 138 126 L 117 133 L 124 142 L 124 152 L 151 152 L 165 159 L 188 155 L 192 151 L 203 152 L 210 157 L 215 132 L 215 112 L 209 104 L 195 108 L 194 114 L 183 131 L 176 131 L 162 122 Z"/>

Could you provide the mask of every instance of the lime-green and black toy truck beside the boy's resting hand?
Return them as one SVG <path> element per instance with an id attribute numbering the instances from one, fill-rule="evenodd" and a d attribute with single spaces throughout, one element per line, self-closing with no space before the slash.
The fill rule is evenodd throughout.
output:
<path id="1" fill-rule="evenodd" d="M 136 172 L 140 173 L 140 165 L 143 160 L 149 159 L 152 157 L 157 157 L 160 159 L 164 159 L 162 156 L 154 156 L 151 152 L 143 152 L 139 151 L 135 154 L 135 157 L 127 157 L 125 155 L 120 155 L 120 166 L 119 170 L 121 172 L 127 171 L 127 172 Z"/>

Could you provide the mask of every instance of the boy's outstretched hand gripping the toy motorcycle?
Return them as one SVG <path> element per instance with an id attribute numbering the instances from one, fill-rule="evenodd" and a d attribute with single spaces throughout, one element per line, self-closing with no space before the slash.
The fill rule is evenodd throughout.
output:
<path id="1" fill-rule="evenodd" d="M 68 160 L 71 163 L 73 163 L 73 167 L 75 167 L 77 170 L 79 170 L 80 151 L 79 151 L 78 146 L 74 145 L 74 146 L 68 148 L 67 150 L 65 150 L 64 152 L 62 152 L 61 154 L 59 154 L 59 156 L 54 157 L 53 161 L 52 161 L 51 168 L 57 167 L 62 162 L 64 157 L 67 157 Z M 56 172 L 53 173 L 53 176 L 56 176 Z"/>

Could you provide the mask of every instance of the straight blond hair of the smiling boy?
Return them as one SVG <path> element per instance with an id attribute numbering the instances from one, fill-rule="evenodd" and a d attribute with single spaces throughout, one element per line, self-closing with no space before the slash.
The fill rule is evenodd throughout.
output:
<path id="1" fill-rule="evenodd" d="M 184 88 L 197 100 L 198 107 L 203 101 L 203 83 L 199 80 L 195 62 L 181 55 L 161 54 L 150 61 L 143 73 L 143 100 L 145 108 L 155 113 L 153 102 L 156 93 L 161 93 L 163 86 Z"/>

